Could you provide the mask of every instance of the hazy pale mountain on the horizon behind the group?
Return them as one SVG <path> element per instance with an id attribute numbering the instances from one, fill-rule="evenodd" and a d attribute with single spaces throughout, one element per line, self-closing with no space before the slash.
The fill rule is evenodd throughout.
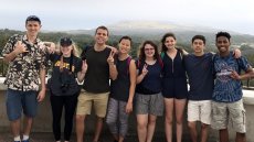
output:
<path id="1" fill-rule="evenodd" d="M 180 42 L 190 42 L 190 39 L 195 34 L 202 34 L 208 39 L 208 42 L 214 42 L 215 33 L 225 31 L 202 25 L 189 23 L 176 23 L 170 21 L 120 21 L 115 24 L 106 25 L 109 29 L 110 35 L 135 35 L 142 39 L 160 40 L 167 32 L 173 32 Z M 71 30 L 65 31 L 68 34 L 89 34 L 94 35 L 95 29 L 92 30 Z M 243 33 L 227 31 L 232 35 L 232 41 L 239 43 L 254 43 L 254 36 Z"/>

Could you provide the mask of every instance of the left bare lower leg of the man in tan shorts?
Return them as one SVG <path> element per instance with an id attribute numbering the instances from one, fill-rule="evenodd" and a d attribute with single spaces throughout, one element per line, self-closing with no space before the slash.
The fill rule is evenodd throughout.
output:
<path id="1" fill-rule="evenodd" d="M 76 141 L 83 142 L 83 134 L 85 132 L 85 114 L 76 114 Z"/>

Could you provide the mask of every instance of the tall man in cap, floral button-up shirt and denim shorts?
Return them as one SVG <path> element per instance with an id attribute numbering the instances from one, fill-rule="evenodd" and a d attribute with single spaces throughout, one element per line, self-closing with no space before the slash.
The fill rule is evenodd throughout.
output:
<path id="1" fill-rule="evenodd" d="M 14 142 L 29 142 L 38 102 L 44 99 L 46 91 L 45 48 L 47 47 L 38 39 L 41 20 L 35 15 L 28 17 L 25 29 L 24 35 L 14 34 L 2 50 L 3 59 L 9 64 L 4 84 L 8 87 L 7 114 L 11 122 Z M 53 43 L 51 45 L 54 46 Z M 20 135 L 22 112 L 24 113 L 24 128 L 23 135 Z"/>

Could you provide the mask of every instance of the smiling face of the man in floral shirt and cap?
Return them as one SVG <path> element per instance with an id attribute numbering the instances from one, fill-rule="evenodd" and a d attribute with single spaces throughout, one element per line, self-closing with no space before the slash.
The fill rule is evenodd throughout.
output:
<path id="1" fill-rule="evenodd" d="M 36 36 L 41 30 L 41 24 L 38 21 L 28 21 L 25 23 L 25 29 L 29 36 Z"/>

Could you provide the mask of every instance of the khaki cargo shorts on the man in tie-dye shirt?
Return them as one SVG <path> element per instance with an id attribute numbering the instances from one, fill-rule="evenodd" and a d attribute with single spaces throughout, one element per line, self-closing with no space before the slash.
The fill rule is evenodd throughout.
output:
<path id="1" fill-rule="evenodd" d="M 246 116 L 243 100 L 229 103 L 212 101 L 212 128 L 218 130 L 226 129 L 229 120 L 232 121 L 232 128 L 236 132 L 246 132 Z"/>

